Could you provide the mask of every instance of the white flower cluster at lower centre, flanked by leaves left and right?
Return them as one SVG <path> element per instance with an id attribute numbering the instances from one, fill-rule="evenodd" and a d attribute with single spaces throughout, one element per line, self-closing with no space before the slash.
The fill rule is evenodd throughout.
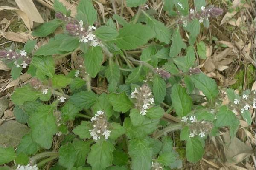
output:
<path id="1" fill-rule="evenodd" d="M 93 129 L 90 129 L 90 136 L 93 137 L 94 140 L 100 139 L 101 136 L 104 136 L 105 139 L 108 139 L 110 136 L 111 130 L 107 130 L 107 124 L 105 115 L 103 111 L 97 111 L 95 116 L 91 118 L 93 122 Z"/>

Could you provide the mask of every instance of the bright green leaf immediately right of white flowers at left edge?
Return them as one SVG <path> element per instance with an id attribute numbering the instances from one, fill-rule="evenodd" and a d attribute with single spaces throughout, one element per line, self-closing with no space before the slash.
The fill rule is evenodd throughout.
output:
<path id="1" fill-rule="evenodd" d="M 32 65 L 37 68 L 37 71 L 40 71 L 41 74 L 53 77 L 55 73 L 55 63 L 52 56 L 35 56 L 32 58 Z"/>

